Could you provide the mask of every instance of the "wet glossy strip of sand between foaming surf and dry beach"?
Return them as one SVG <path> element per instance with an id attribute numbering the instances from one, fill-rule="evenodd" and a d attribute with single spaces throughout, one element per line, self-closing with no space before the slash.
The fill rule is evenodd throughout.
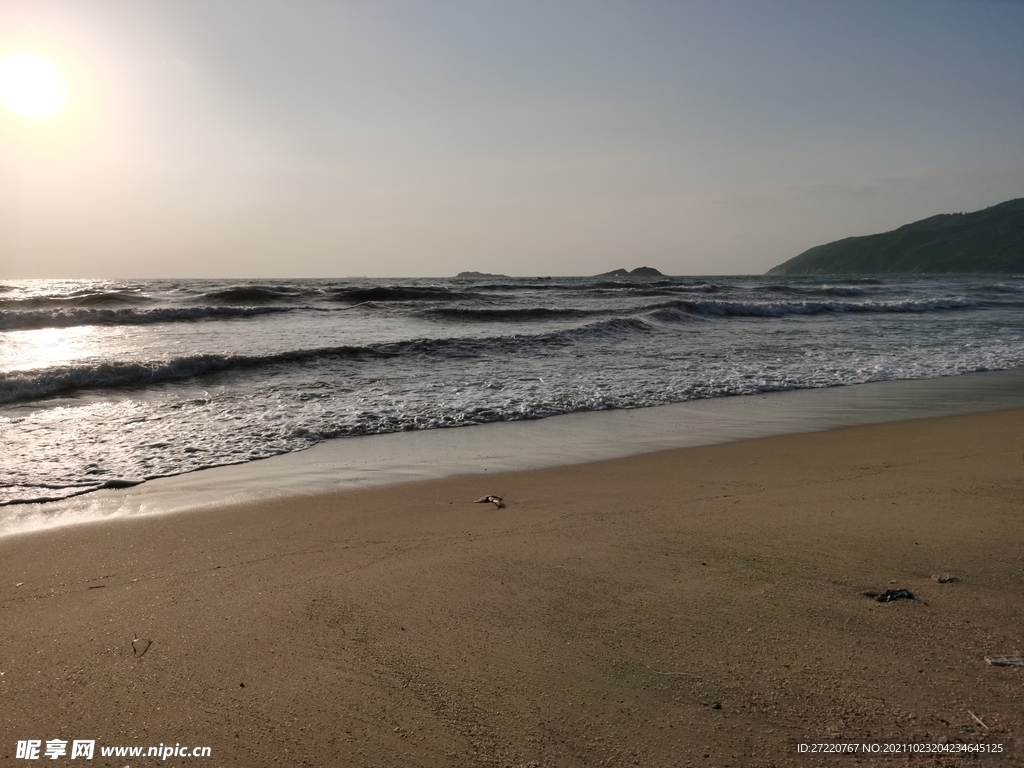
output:
<path id="1" fill-rule="evenodd" d="M 127 488 L 0 507 L 0 538 L 263 499 L 570 466 L 675 447 L 1013 408 L 1024 408 L 1024 369 L 340 437 L 305 451 Z"/>

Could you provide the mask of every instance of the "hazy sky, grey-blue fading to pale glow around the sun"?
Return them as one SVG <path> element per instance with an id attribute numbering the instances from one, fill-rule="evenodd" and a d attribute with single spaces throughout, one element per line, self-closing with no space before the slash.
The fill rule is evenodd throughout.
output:
<path id="1" fill-rule="evenodd" d="M 0 279 L 760 273 L 1024 197 L 1024 1 L 0 0 Z"/>

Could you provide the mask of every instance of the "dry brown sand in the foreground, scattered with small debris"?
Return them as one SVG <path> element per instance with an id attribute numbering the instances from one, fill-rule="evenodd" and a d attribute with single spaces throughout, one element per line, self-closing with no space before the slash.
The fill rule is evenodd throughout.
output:
<path id="1" fill-rule="evenodd" d="M 975 764 L 792 740 L 1021 732 L 1022 459 L 1012 411 L 9 537 L 0 760 Z"/>

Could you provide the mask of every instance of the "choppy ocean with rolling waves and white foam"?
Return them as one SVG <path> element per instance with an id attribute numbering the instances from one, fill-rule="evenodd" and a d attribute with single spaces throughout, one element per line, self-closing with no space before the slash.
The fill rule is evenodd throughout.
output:
<path id="1" fill-rule="evenodd" d="M 1024 367 L 1024 275 L 0 283 L 0 505 L 327 440 Z"/>

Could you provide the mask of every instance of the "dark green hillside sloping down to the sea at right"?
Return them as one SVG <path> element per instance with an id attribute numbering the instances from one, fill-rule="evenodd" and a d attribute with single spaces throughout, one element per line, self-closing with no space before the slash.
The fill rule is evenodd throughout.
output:
<path id="1" fill-rule="evenodd" d="M 1024 273 L 1024 198 L 816 246 L 768 274 Z"/>

